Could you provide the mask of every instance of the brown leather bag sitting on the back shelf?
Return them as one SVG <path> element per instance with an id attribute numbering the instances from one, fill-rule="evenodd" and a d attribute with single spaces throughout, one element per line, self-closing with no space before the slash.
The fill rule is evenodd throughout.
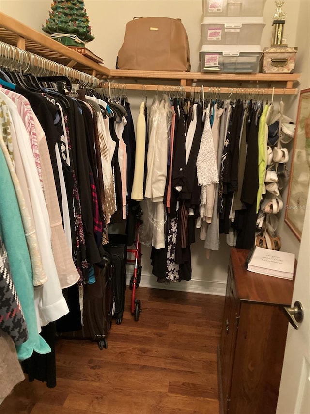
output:
<path id="1" fill-rule="evenodd" d="M 190 71 L 186 30 L 178 19 L 135 17 L 126 24 L 117 69 Z"/>

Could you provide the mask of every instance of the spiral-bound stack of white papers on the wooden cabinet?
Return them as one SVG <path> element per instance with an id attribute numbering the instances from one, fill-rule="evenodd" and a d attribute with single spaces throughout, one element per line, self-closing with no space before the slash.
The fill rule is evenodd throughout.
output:
<path id="1" fill-rule="evenodd" d="M 277 278 L 293 279 L 295 255 L 284 251 L 269 250 L 255 246 L 248 257 L 250 272 Z"/>

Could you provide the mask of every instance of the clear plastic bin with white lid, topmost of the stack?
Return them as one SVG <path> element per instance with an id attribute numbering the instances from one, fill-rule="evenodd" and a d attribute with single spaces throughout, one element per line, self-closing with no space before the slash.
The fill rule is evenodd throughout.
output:
<path id="1" fill-rule="evenodd" d="M 204 16 L 263 16 L 266 0 L 202 0 Z"/>

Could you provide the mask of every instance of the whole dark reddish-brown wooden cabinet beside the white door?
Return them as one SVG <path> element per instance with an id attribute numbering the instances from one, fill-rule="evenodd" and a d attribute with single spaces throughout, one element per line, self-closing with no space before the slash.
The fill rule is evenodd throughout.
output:
<path id="1" fill-rule="evenodd" d="M 248 250 L 231 250 L 217 348 L 221 414 L 274 414 L 294 281 L 245 270 Z"/>

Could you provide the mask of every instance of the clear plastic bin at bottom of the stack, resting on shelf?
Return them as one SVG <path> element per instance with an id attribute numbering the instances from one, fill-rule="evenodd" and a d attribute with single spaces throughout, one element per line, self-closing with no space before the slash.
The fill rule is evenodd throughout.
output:
<path id="1" fill-rule="evenodd" d="M 201 71 L 219 73 L 257 73 L 259 71 L 261 47 L 203 45 L 200 51 Z"/>

